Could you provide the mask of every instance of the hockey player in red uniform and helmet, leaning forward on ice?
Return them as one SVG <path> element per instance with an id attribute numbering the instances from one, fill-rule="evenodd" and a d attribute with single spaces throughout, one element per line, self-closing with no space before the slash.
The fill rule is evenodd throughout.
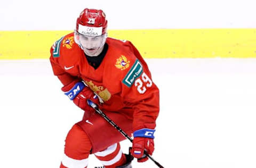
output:
<path id="1" fill-rule="evenodd" d="M 147 161 L 154 151 L 159 91 L 146 62 L 130 41 L 107 37 L 102 10 L 84 9 L 74 32 L 57 40 L 50 57 L 65 95 L 84 111 L 83 120 L 69 131 L 60 167 L 86 167 L 94 154 L 105 167 L 131 167 L 132 156 Z M 87 99 L 129 136 L 131 155 L 122 153 L 125 138 L 93 108 Z"/>

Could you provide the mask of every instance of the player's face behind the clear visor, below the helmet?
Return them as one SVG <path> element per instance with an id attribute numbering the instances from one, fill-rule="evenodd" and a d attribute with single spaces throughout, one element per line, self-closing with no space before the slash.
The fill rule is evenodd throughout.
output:
<path id="1" fill-rule="evenodd" d="M 106 34 L 101 36 L 79 36 L 79 44 L 83 47 L 84 53 L 88 56 L 98 56 L 106 41 Z"/>

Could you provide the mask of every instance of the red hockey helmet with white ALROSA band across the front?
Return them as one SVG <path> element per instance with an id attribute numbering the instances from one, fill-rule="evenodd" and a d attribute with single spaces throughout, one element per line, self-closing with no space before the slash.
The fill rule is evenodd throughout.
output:
<path id="1" fill-rule="evenodd" d="M 101 36 L 106 33 L 107 24 L 106 15 L 102 10 L 86 8 L 77 18 L 76 31 L 85 36 Z"/>

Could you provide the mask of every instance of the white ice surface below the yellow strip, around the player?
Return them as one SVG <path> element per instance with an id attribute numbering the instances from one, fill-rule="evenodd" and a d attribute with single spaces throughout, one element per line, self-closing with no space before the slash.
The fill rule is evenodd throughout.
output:
<path id="1" fill-rule="evenodd" d="M 255 59 L 146 61 L 161 99 L 156 161 L 256 167 Z M 66 135 L 83 112 L 61 92 L 49 61 L 0 61 L 0 88 L 0 167 L 59 167 Z M 130 142 L 121 145 L 127 152 Z M 100 163 L 90 156 L 94 166 Z"/>

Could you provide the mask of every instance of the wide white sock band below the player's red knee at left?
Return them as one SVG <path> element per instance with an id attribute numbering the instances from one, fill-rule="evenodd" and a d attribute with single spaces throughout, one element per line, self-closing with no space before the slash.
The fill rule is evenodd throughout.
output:
<path id="1" fill-rule="evenodd" d="M 77 160 L 74 158 L 70 158 L 66 154 L 64 154 L 62 164 L 63 166 L 66 166 L 68 168 L 84 168 L 88 165 L 88 158 Z"/>

